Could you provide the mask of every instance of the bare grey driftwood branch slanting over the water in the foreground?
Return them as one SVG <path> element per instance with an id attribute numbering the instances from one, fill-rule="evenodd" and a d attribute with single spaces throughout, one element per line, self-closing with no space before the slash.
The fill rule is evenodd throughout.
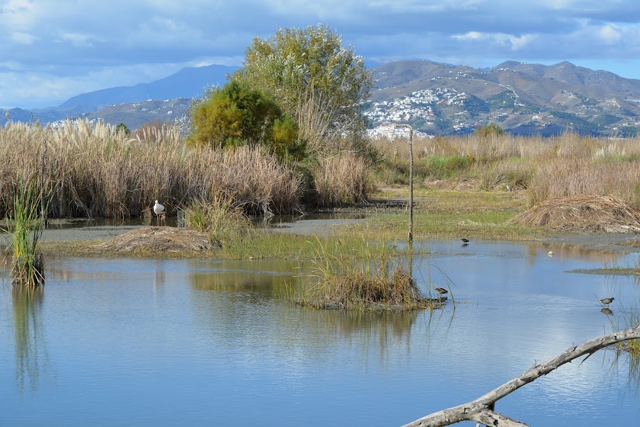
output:
<path id="1" fill-rule="evenodd" d="M 580 345 L 570 347 L 564 352 L 558 354 L 551 359 L 543 362 L 542 364 L 534 365 L 530 367 L 528 371 L 524 372 L 520 376 L 505 384 L 499 386 L 497 389 L 489 391 L 484 396 L 480 396 L 474 401 L 470 401 L 467 404 L 454 406 L 453 408 L 444 409 L 444 411 L 434 412 L 430 415 L 424 416 L 420 419 L 405 424 L 403 427 L 442 427 L 449 426 L 460 421 L 476 421 L 476 423 L 484 424 L 485 426 L 496 427 L 523 427 L 527 426 L 525 423 L 513 420 L 500 413 L 494 412 L 492 409 L 496 404 L 496 401 L 502 399 L 504 396 L 516 391 L 521 386 L 529 384 L 531 381 L 548 374 L 550 371 L 562 366 L 567 362 L 571 362 L 578 357 L 587 354 L 587 357 L 591 356 L 594 352 L 604 347 L 609 347 L 612 344 L 623 342 L 628 339 L 640 338 L 640 325 L 632 327 L 631 329 L 614 332 L 612 334 L 602 335 L 589 341 L 585 341 Z M 586 358 L 585 358 L 586 359 Z M 584 361 L 583 361 L 584 362 Z"/>

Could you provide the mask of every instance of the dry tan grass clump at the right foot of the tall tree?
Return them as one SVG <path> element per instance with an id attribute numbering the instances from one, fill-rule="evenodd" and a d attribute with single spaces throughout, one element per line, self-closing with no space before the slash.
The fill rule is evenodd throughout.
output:
<path id="1" fill-rule="evenodd" d="M 341 206 L 366 201 L 368 173 L 366 161 L 353 153 L 321 159 L 314 171 L 318 205 Z"/>

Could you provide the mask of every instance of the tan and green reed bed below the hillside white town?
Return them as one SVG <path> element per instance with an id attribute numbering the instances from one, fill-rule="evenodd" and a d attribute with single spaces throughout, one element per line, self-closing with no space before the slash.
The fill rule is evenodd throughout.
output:
<path id="1" fill-rule="evenodd" d="M 375 139 L 383 157 L 384 184 L 407 181 L 406 139 Z M 557 137 L 469 135 L 413 141 L 417 182 L 476 182 L 477 189 L 528 191 L 528 203 L 561 196 L 614 194 L 640 206 L 640 139 L 607 139 L 566 133 Z"/>

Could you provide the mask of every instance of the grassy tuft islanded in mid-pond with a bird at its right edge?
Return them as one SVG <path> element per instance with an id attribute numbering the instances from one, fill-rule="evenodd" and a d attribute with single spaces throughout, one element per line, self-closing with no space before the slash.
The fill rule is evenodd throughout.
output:
<path id="1" fill-rule="evenodd" d="M 317 240 L 318 260 L 314 273 L 300 276 L 300 286 L 292 300 L 325 310 L 418 310 L 442 307 L 444 300 L 430 299 L 422 294 L 407 266 L 383 251 L 371 256 L 368 241 L 361 253 L 365 259 L 330 255 Z M 381 243 L 384 245 L 384 243 Z M 385 246 L 386 247 L 386 246 Z M 379 248 L 375 251 L 379 253 Z"/>

